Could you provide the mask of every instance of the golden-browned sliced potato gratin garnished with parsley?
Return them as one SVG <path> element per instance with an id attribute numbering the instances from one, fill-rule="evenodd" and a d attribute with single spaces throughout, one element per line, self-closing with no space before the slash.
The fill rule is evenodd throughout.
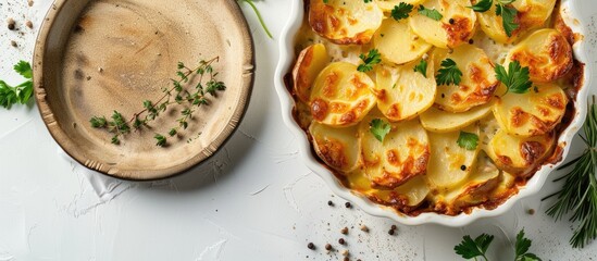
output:
<path id="1" fill-rule="evenodd" d="M 494 209 L 561 160 L 584 64 L 556 0 L 304 0 L 286 85 L 344 186 L 407 215 Z"/>

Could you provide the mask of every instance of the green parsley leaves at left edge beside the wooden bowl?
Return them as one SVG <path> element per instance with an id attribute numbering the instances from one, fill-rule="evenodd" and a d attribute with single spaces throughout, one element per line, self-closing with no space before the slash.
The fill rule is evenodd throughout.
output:
<path id="1" fill-rule="evenodd" d="M 25 104 L 33 96 L 32 65 L 28 62 L 21 61 L 14 65 L 13 70 L 27 80 L 14 87 L 4 80 L 0 80 L 0 107 L 5 109 L 11 109 L 16 103 Z"/>

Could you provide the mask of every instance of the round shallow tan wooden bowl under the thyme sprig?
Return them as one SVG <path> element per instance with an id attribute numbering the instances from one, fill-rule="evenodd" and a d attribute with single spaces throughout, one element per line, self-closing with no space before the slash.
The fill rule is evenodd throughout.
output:
<path id="1" fill-rule="evenodd" d="M 111 144 L 91 127 L 114 110 L 128 120 L 157 101 L 176 77 L 178 62 L 213 64 L 225 91 L 199 108 L 169 146 L 153 136 L 176 126 L 174 104 L 149 124 Z M 34 55 L 35 97 L 58 144 L 83 165 L 114 177 L 165 178 L 210 158 L 239 124 L 253 84 L 252 39 L 235 0 L 57 0 Z"/>

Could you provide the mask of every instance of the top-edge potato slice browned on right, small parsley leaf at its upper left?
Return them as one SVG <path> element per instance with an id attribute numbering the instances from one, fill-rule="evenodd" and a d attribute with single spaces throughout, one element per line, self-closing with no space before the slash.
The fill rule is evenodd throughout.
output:
<path id="1" fill-rule="evenodd" d="M 456 48 L 474 36 L 476 15 L 469 0 L 427 0 L 425 9 L 435 9 L 443 17 L 430 18 L 419 12 L 410 17 L 412 30 L 427 42 L 439 48 Z M 451 23 L 450 23 L 451 22 Z"/>

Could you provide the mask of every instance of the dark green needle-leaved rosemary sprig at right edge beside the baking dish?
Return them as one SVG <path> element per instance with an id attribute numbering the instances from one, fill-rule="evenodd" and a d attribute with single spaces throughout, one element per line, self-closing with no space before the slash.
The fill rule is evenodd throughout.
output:
<path id="1" fill-rule="evenodd" d="M 564 176 L 555 182 L 565 181 L 561 190 L 548 196 L 557 196 L 556 202 L 547 214 L 561 220 L 572 212 L 571 222 L 579 222 L 570 244 L 574 248 L 584 248 L 597 238 L 597 103 L 588 108 L 587 120 L 583 127 L 585 136 L 579 135 L 586 145 L 585 151 L 559 170 L 573 166 Z"/>

